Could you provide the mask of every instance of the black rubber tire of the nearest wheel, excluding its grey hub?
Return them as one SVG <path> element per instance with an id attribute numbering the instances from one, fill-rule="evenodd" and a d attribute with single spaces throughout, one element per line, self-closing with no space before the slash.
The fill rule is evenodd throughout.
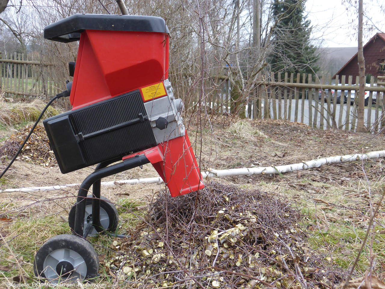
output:
<path id="1" fill-rule="evenodd" d="M 53 251 L 57 249 L 70 249 L 77 252 L 87 266 L 87 274 L 81 281 L 95 278 L 99 271 L 99 257 L 94 247 L 87 240 L 70 234 L 58 235 L 47 240 L 36 252 L 33 261 L 33 272 L 36 277 L 46 278 L 44 274 L 44 261 Z M 78 279 L 79 280 L 79 279 Z M 60 282 L 65 282 L 64 278 Z M 55 283 L 55 281 L 53 281 Z"/>

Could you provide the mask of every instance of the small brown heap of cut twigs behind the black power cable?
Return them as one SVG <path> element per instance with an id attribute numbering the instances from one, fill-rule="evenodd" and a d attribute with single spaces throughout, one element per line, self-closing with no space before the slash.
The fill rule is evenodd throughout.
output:
<path id="1" fill-rule="evenodd" d="M 27 137 L 32 126 L 26 126 L 14 133 L 0 145 L 2 160 L 13 158 Z M 33 161 L 43 167 L 52 167 L 56 164 L 54 152 L 49 145 L 49 139 L 43 126 L 36 126 L 17 160 Z"/>

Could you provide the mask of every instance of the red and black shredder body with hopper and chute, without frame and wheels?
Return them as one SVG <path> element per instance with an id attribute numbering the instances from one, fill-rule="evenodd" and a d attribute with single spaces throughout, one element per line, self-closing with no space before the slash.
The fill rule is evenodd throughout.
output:
<path id="1" fill-rule="evenodd" d="M 67 85 L 73 109 L 44 121 L 62 173 L 144 154 L 173 197 L 204 187 L 168 80 L 162 18 L 75 14 L 44 37 L 79 41 Z"/>

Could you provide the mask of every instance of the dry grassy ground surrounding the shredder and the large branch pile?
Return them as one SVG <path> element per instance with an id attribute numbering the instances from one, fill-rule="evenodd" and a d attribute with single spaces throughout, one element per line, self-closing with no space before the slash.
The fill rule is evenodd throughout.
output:
<path id="1" fill-rule="evenodd" d="M 368 134 L 313 130 L 302 124 L 283 121 L 242 122 L 231 126 L 231 119 L 226 117 L 212 119 L 213 126 L 202 127 L 202 149 L 200 133 L 196 133 L 200 127 L 190 123 L 189 136 L 196 145 L 197 155 L 201 155 L 199 161 L 202 167 L 221 169 L 282 165 L 318 156 L 381 150 L 385 140 L 384 136 L 370 139 Z M 1 168 L 6 164 L 3 162 Z M 86 168 L 62 175 L 57 167 L 48 169 L 16 161 L 6 178 L 1 180 L 0 187 L 81 183 L 92 170 Z M 248 190 L 261 189 L 296 202 L 301 207 L 303 228 L 309 236 L 310 246 L 330 254 L 328 261 L 333 266 L 348 269 L 365 236 L 370 209 L 382 193 L 384 171 L 385 161 L 380 159 L 285 175 L 230 177 L 221 180 L 221 183 Z M 146 165 L 142 170 L 136 168 L 106 180 L 150 176 L 156 176 L 156 172 L 151 165 Z M 121 206 L 121 225 L 127 228 L 134 226 L 142 216 L 138 211 L 133 214 L 131 209 L 143 202 L 148 203 L 162 188 L 164 185 L 102 187 L 102 195 Z M 0 221 L 0 232 L 8 232 L 5 239 L 9 247 L 0 244 L 0 266 L 9 266 L 11 271 L 0 271 L 0 287 L 6 287 L 2 284 L 20 274 L 32 277 L 33 256 L 40 245 L 53 235 L 69 233 L 68 225 L 59 215 L 67 217 L 76 193 L 76 188 L 48 193 L 2 193 L 0 217 L 9 218 L 10 222 Z M 372 242 L 365 246 L 354 276 L 362 276 L 371 262 L 379 276 L 385 272 L 384 221 L 385 212 L 380 208 L 375 230 L 370 235 Z M 109 238 L 101 236 L 90 241 L 97 246 L 102 259 L 111 256 Z M 8 259 L 12 254 L 16 257 Z M 97 282 L 107 283 L 110 287 L 117 284 L 122 288 L 130 287 L 106 271 L 102 270 L 100 274 L 102 277 Z"/>

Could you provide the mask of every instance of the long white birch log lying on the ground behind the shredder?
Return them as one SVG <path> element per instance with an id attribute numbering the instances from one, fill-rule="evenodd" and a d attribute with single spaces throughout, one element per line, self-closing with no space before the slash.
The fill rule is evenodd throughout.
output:
<path id="1" fill-rule="evenodd" d="M 304 161 L 302 163 L 295 163 L 291 165 L 283 166 L 265 166 L 265 167 L 254 167 L 254 168 L 238 168 L 228 170 L 214 170 L 209 169 L 202 173 L 203 178 L 223 178 L 225 176 L 252 176 L 252 175 L 274 175 L 280 173 L 289 173 L 293 171 L 308 170 L 310 168 L 319 168 L 322 165 L 330 165 L 334 163 L 348 163 L 352 161 L 371 160 L 374 158 L 384 158 L 385 150 L 383 151 L 372 151 L 366 154 L 355 154 L 355 155 L 344 155 L 344 156 L 330 156 L 328 158 L 318 158 L 316 160 Z M 160 177 L 156 178 L 141 178 L 133 180 L 121 180 L 121 181 L 104 181 L 101 183 L 102 186 L 113 187 L 116 185 L 136 185 L 136 184 L 149 184 L 149 183 L 162 183 Z M 0 190 L 0 193 L 5 192 L 36 192 L 36 191 L 53 191 L 63 190 L 70 187 L 78 187 L 80 184 L 69 184 L 69 185 L 57 185 L 49 187 L 31 187 L 31 188 L 16 188 Z"/>

